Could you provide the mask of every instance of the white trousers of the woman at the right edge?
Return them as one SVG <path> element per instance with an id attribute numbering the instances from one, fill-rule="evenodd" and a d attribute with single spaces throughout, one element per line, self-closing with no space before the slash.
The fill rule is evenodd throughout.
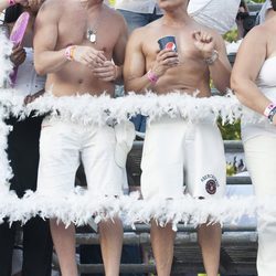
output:
<path id="1" fill-rule="evenodd" d="M 276 137 L 257 136 L 244 142 L 246 164 L 262 199 L 276 195 Z M 276 217 L 258 217 L 258 276 L 276 275 Z M 267 221 L 267 219 L 269 221 Z"/>

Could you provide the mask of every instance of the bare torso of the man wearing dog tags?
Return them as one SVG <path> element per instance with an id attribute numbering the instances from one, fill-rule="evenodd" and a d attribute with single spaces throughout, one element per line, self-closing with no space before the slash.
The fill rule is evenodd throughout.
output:
<path id="1" fill-rule="evenodd" d="M 114 47 L 120 34 L 118 18 L 110 8 L 103 4 L 100 13 L 89 13 L 78 2 L 61 4 L 62 17 L 57 22 L 57 42 L 55 51 L 68 45 L 85 45 L 104 51 L 107 60 L 113 59 Z M 86 39 L 87 28 L 96 31 L 96 43 Z M 94 95 L 114 92 L 114 84 L 97 79 L 87 66 L 68 62 L 62 70 L 47 75 L 46 88 L 57 96 L 91 93 Z"/>

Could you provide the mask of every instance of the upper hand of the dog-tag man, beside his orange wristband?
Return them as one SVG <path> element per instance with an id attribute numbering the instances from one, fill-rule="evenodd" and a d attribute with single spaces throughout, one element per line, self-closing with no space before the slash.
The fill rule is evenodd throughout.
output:
<path id="1" fill-rule="evenodd" d="M 106 62 L 103 51 L 89 46 L 75 46 L 73 60 L 91 68 L 103 66 Z"/>

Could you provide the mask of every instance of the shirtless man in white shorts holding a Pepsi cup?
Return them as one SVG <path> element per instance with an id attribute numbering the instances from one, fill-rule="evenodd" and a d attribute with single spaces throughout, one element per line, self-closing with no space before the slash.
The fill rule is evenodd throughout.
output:
<path id="1" fill-rule="evenodd" d="M 211 78 L 219 91 L 224 92 L 229 87 L 231 65 L 224 42 L 213 30 L 198 24 L 188 15 L 188 2 L 159 0 L 164 17 L 134 31 L 124 68 L 127 91 L 144 93 L 152 89 L 161 95 L 174 89 L 193 94 L 198 89 L 199 97 L 209 97 Z M 178 53 L 159 51 L 158 40 L 168 35 L 176 36 Z M 200 134 L 197 139 L 201 145 L 192 142 L 195 132 Z M 199 148 L 204 150 L 200 151 L 200 158 L 199 152 L 194 152 Z M 146 199 L 181 197 L 183 170 L 192 197 L 224 195 L 225 158 L 217 127 L 212 123 L 191 126 L 183 119 L 168 117 L 151 123 L 146 131 L 141 169 L 141 191 Z M 170 275 L 174 236 L 171 225 L 160 227 L 152 222 L 151 243 L 159 276 Z M 201 225 L 199 243 L 208 275 L 216 276 L 220 226 Z"/>

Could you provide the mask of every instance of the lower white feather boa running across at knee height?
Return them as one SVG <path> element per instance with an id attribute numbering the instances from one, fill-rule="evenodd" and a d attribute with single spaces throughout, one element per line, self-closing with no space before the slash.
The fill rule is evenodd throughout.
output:
<path id="1" fill-rule="evenodd" d="M 257 215 L 275 217 L 275 198 L 258 201 L 255 197 L 233 197 L 223 199 L 195 200 L 183 195 L 177 200 L 139 200 L 137 193 L 113 197 L 99 197 L 76 189 L 66 197 L 41 197 L 26 192 L 21 200 L 13 192 L 0 194 L 0 223 L 4 217 L 9 222 L 25 223 L 35 215 L 43 219 L 57 217 L 64 224 L 87 224 L 94 216 L 95 222 L 121 217 L 127 225 L 147 223 L 156 220 L 160 225 L 172 223 L 177 231 L 178 223 L 198 226 L 202 223 L 238 223 L 244 216 Z M 270 221 L 272 219 L 269 219 Z"/>

